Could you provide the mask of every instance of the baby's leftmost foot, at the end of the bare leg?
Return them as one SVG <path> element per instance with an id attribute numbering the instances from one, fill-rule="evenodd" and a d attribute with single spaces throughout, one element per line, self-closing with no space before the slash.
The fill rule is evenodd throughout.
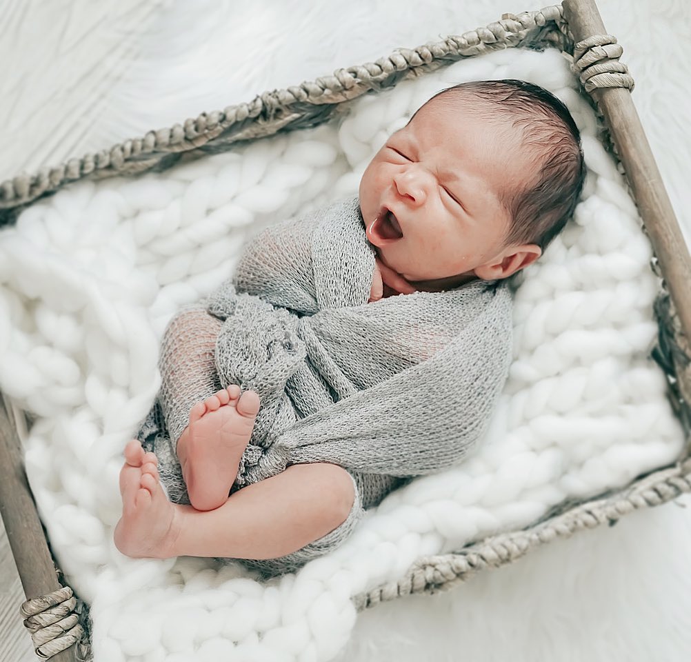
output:
<path id="1" fill-rule="evenodd" d="M 158 460 L 144 453 L 133 439 L 125 448 L 120 471 L 122 517 L 113 538 L 115 547 L 134 558 L 169 558 L 171 554 L 175 506 L 167 499 L 158 481 Z"/>

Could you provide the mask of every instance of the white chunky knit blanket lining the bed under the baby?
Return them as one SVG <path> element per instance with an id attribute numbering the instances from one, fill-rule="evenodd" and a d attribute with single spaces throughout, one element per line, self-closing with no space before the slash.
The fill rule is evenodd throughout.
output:
<path id="1" fill-rule="evenodd" d="M 430 95 L 507 77 L 567 103 L 589 178 L 575 223 L 516 296 L 513 366 L 479 452 L 393 493 L 341 549 L 267 584 L 209 560 L 120 556 L 122 448 L 158 390 L 173 312 L 225 278 L 257 225 L 354 193 L 384 135 Z M 68 188 L 0 233 L 0 388 L 37 416 L 26 467 L 61 567 L 92 604 L 97 662 L 332 659 L 355 621 L 350 597 L 419 556 L 674 460 L 681 431 L 647 359 L 650 247 L 594 126 L 560 55 L 507 50 L 365 97 L 340 127 Z"/>

